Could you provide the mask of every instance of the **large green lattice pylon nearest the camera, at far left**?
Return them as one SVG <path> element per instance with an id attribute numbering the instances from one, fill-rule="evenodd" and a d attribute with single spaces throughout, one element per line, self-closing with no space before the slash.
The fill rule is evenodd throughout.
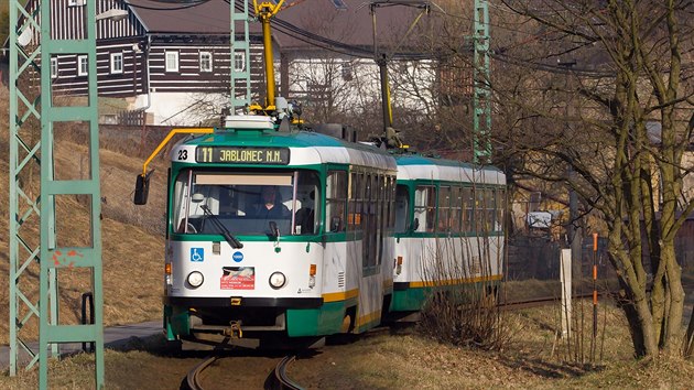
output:
<path id="1" fill-rule="evenodd" d="M 42 389 L 47 387 L 48 348 L 55 356 L 59 344 L 79 342 L 94 343 L 95 382 L 104 386 L 96 4 L 79 7 L 85 29 L 57 40 L 51 34 L 56 10 L 50 0 L 10 0 L 10 375 L 17 375 L 18 365 L 25 364 L 22 356 L 29 355 L 24 367 L 39 362 Z M 66 54 L 87 55 L 88 101 L 79 107 L 54 106 L 51 58 Z M 59 180 L 65 175 L 54 162 L 54 128 L 63 122 L 88 123 L 88 178 Z M 55 203 L 65 195 L 91 199 L 89 246 L 59 246 Z M 76 268 L 91 270 L 94 324 L 58 321 L 58 274 Z M 36 325 L 37 349 L 29 343 Z"/>

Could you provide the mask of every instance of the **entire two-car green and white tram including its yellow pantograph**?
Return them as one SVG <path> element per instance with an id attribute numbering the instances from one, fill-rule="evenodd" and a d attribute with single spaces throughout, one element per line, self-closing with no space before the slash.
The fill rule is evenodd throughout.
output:
<path id="1" fill-rule="evenodd" d="M 281 4 L 254 2 L 265 43 Z M 141 205 L 149 162 L 173 136 L 196 134 L 171 152 L 170 342 L 311 346 L 416 312 L 442 288 L 500 280 L 501 172 L 358 143 L 341 127 L 290 126 L 271 54 L 265 45 L 264 107 L 220 128 L 172 130 L 137 177 Z"/>

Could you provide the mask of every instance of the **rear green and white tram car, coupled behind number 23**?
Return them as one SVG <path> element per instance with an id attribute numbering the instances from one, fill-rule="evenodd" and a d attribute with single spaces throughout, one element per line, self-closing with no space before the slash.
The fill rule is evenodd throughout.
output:
<path id="1" fill-rule="evenodd" d="M 390 311 L 419 311 L 437 290 L 475 286 L 496 294 L 503 273 L 503 173 L 416 154 L 397 161 Z"/>

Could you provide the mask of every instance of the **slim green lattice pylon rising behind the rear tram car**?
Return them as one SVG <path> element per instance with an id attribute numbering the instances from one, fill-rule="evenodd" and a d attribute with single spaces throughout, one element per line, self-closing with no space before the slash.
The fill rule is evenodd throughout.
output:
<path id="1" fill-rule="evenodd" d="M 489 86 L 489 8 L 487 0 L 475 0 L 473 41 L 473 159 L 488 164 L 491 158 L 491 88 Z"/>

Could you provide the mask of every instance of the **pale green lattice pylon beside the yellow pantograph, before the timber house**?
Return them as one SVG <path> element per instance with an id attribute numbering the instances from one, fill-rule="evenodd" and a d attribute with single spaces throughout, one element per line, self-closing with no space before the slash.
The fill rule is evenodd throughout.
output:
<path id="1" fill-rule="evenodd" d="M 251 102 L 251 84 L 250 84 L 250 37 L 248 30 L 248 1 L 242 0 L 240 6 L 237 6 L 237 0 L 229 1 L 230 18 L 231 21 L 229 36 L 229 45 L 231 58 L 229 63 L 229 102 L 230 113 L 238 113 L 245 108 L 250 106 Z M 241 31 L 237 39 L 237 22 L 241 26 Z M 243 68 L 241 71 L 236 69 L 236 55 L 242 54 Z"/>

